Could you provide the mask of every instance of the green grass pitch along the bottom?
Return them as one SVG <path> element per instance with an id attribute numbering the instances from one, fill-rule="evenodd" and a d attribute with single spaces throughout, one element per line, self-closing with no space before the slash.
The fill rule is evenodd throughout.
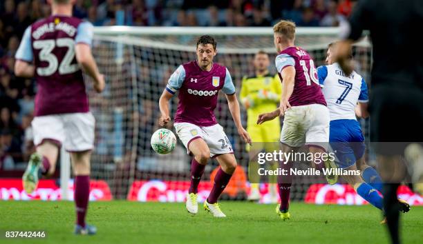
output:
<path id="1" fill-rule="evenodd" d="M 370 205 L 292 203 L 290 221 L 275 205 L 222 202 L 227 218 L 203 211 L 192 216 L 183 203 L 91 202 L 88 223 L 95 236 L 72 234 L 73 202 L 0 201 L 0 232 L 45 230 L 46 238 L 6 239 L 0 243 L 388 243 L 380 212 Z M 401 214 L 404 243 L 422 243 L 423 207 Z"/>

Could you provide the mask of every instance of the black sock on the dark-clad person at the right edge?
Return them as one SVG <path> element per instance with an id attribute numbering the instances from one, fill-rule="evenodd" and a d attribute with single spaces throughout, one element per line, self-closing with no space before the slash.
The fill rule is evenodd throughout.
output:
<path id="1" fill-rule="evenodd" d="M 398 232 L 400 220 L 400 205 L 397 199 L 397 188 L 400 184 L 384 184 L 384 210 L 388 225 L 389 234 L 393 244 L 400 243 L 400 234 Z"/>

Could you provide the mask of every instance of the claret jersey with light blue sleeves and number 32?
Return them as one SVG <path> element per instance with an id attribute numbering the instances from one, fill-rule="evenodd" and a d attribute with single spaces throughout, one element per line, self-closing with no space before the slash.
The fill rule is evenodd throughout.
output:
<path id="1" fill-rule="evenodd" d="M 15 58 L 34 62 L 35 116 L 88 112 L 75 43 L 91 45 L 92 39 L 91 23 L 62 15 L 41 19 L 26 29 Z"/>

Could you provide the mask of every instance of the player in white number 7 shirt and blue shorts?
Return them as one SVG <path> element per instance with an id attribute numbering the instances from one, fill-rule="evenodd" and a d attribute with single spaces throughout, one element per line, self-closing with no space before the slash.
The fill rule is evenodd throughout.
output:
<path id="1" fill-rule="evenodd" d="M 350 75 L 342 72 L 335 63 L 334 50 L 336 43 L 328 45 L 326 63 L 317 68 L 319 83 L 323 85 L 323 95 L 330 113 L 329 142 L 337 155 L 338 165 L 343 170 L 361 171 L 360 175 L 345 175 L 344 179 L 363 199 L 383 209 L 382 179 L 377 171 L 364 161 L 364 136 L 361 126 L 355 117 L 357 102 L 362 117 L 367 117 L 368 90 L 366 81 L 360 74 L 353 71 Z M 350 58 L 353 57 L 350 50 Z M 379 192 L 377 192 L 377 191 Z M 402 212 L 408 212 L 410 205 L 401 200 Z M 384 221 L 382 221 L 384 223 Z"/>

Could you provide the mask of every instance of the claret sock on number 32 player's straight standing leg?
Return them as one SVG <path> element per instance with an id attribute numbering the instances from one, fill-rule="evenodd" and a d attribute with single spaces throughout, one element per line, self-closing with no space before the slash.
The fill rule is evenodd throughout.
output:
<path id="1" fill-rule="evenodd" d="M 90 176 L 75 176 L 75 208 L 77 214 L 77 224 L 85 227 L 85 216 L 90 196 Z"/>

